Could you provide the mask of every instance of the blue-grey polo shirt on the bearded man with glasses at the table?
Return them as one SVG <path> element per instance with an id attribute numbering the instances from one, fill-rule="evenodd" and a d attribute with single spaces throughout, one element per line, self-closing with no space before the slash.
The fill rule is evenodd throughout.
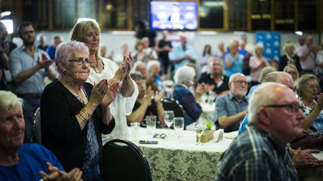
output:
<path id="1" fill-rule="evenodd" d="M 243 100 L 241 102 L 238 102 L 238 100 L 233 96 L 231 91 L 227 94 L 219 96 L 215 102 L 215 111 L 214 111 L 214 121 L 215 121 L 216 127 L 220 128 L 220 125 L 218 123 L 219 117 L 236 115 L 246 110 L 247 107 L 248 107 L 248 98 L 246 96 L 243 97 Z M 237 131 L 240 127 L 240 122 L 224 129 L 224 131 L 225 132 Z"/>

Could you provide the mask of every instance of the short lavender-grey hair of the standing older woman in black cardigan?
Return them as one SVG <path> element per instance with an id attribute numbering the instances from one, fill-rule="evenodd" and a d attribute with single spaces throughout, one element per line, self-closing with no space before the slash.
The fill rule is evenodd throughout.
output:
<path id="1" fill-rule="evenodd" d="M 69 65 L 69 60 L 73 58 L 75 52 L 85 52 L 89 54 L 88 47 L 78 41 L 69 41 L 65 43 L 61 43 L 56 46 L 56 53 L 55 53 L 55 65 L 57 67 L 58 73 L 60 75 L 63 73 L 62 69 L 58 66 L 58 61 L 63 61 L 64 65 Z"/>

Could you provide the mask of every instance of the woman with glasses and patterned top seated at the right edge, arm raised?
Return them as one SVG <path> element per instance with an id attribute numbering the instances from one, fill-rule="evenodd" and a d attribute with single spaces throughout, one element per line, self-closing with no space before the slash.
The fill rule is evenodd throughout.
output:
<path id="1" fill-rule="evenodd" d="M 323 132 L 323 93 L 320 93 L 320 81 L 313 74 L 305 74 L 298 80 L 297 93 L 305 119 L 302 119 L 302 128 L 314 132 Z M 318 98 L 316 102 L 314 99 Z"/>

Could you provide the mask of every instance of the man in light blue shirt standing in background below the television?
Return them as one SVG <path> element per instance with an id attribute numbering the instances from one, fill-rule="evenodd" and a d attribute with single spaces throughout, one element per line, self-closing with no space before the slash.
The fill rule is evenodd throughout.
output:
<path id="1" fill-rule="evenodd" d="M 171 61 L 175 66 L 175 70 L 187 63 L 196 62 L 196 54 L 193 47 L 187 45 L 187 39 L 184 35 L 180 36 L 181 45 L 174 47 L 171 53 Z"/>

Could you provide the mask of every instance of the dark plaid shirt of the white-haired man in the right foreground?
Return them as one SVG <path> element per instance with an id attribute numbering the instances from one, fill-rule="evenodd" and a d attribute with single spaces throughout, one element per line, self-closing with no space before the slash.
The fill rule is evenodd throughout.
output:
<path id="1" fill-rule="evenodd" d="M 220 161 L 215 181 L 298 181 L 286 145 L 249 124 Z"/>

